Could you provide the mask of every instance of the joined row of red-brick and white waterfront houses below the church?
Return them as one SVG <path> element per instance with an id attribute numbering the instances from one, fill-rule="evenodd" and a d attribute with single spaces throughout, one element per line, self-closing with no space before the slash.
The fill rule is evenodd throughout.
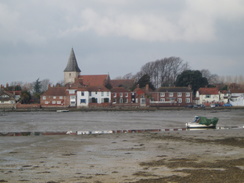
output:
<path id="1" fill-rule="evenodd" d="M 188 87 L 159 88 L 151 91 L 123 87 L 49 87 L 41 96 L 42 107 L 93 107 L 93 106 L 186 106 L 193 103 L 193 93 Z"/>

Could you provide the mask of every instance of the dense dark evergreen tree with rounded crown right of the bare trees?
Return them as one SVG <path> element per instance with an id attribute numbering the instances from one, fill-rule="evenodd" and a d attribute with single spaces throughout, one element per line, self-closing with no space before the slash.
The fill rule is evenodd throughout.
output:
<path id="1" fill-rule="evenodd" d="M 175 86 L 187 87 L 191 86 L 194 95 L 196 91 L 208 85 L 208 80 L 202 77 L 202 73 L 199 70 L 186 70 L 177 76 Z"/>

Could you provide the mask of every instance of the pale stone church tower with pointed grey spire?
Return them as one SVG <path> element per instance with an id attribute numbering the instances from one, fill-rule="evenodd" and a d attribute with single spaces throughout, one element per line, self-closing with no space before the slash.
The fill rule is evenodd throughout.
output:
<path id="1" fill-rule="evenodd" d="M 71 49 L 68 64 L 64 69 L 64 84 L 74 83 L 81 70 L 77 64 L 73 48 Z"/>

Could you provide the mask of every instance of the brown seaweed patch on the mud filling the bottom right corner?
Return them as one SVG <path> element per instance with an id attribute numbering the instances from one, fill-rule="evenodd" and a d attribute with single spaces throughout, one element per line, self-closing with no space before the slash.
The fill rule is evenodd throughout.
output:
<path id="1" fill-rule="evenodd" d="M 216 162 L 195 162 L 191 159 L 158 160 L 140 163 L 141 166 L 167 166 L 175 169 L 174 172 L 187 174 L 186 176 L 167 176 L 157 179 L 141 179 L 135 183 L 162 183 L 162 182 L 215 182 L 215 183 L 243 183 L 244 170 L 238 166 L 244 165 L 244 158 L 234 160 L 219 160 Z M 137 175 L 137 174 L 135 174 Z"/>

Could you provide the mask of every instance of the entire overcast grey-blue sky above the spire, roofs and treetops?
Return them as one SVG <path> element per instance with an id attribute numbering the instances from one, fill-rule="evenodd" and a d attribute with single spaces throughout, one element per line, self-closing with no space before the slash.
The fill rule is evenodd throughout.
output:
<path id="1" fill-rule="evenodd" d="M 0 84 L 136 74 L 180 57 L 191 69 L 243 75 L 244 0 L 0 0 Z"/>

